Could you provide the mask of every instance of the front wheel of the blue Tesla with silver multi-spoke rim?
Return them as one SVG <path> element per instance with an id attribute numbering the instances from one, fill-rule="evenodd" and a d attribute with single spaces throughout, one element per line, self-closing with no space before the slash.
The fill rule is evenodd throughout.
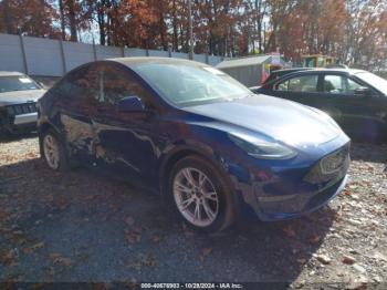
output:
<path id="1" fill-rule="evenodd" d="M 194 179 L 195 186 L 187 176 Z M 189 227 L 203 232 L 221 231 L 234 221 L 236 213 L 233 193 L 227 180 L 220 169 L 205 158 L 185 157 L 170 172 L 168 204 Z"/>

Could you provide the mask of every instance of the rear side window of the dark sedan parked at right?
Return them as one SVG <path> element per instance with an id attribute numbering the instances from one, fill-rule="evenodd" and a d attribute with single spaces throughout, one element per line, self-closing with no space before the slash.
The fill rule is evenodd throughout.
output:
<path id="1" fill-rule="evenodd" d="M 308 74 L 295 76 L 284 82 L 276 84 L 276 91 L 289 92 L 317 92 L 318 75 Z"/>

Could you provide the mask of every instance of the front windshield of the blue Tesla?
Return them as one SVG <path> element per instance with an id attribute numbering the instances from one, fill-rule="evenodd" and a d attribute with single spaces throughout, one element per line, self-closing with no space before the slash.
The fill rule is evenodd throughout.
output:
<path id="1" fill-rule="evenodd" d="M 143 63 L 133 68 L 169 103 L 178 107 L 231 101 L 250 95 L 228 74 L 196 63 Z"/>

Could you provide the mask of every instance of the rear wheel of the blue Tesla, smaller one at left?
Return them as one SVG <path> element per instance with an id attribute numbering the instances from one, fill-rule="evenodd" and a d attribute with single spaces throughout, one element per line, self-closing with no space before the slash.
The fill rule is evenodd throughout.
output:
<path id="1" fill-rule="evenodd" d="M 59 134 L 48 130 L 41 137 L 42 158 L 53 170 L 66 172 L 70 169 L 65 147 Z"/>

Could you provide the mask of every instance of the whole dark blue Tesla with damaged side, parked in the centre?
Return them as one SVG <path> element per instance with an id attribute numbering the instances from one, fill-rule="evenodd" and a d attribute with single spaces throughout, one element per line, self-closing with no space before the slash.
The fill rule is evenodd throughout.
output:
<path id="1" fill-rule="evenodd" d="M 209 65 L 97 61 L 39 101 L 41 155 L 156 188 L 188 225 L 218 231 L 241 213 L 299 217 L 346 183 L 349 138 L 325 113 L 252 94 Z"/>

